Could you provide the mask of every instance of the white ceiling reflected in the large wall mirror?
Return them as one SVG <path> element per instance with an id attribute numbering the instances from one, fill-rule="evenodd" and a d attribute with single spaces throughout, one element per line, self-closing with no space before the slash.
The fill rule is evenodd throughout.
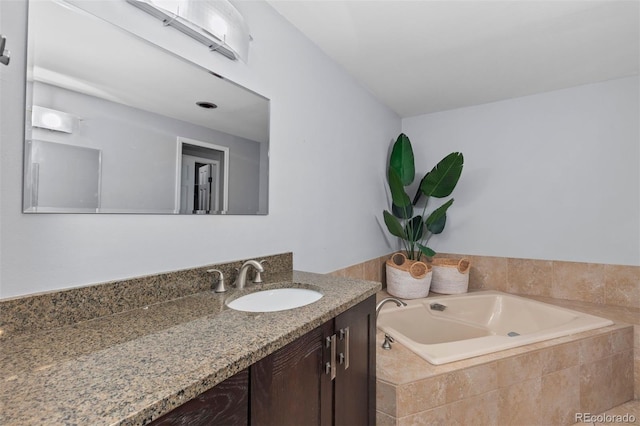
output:
<path id="1" fill-rule="evenodd" d="M 160 21 L 157 28 L 179 34 Z M 269 139 L 266 98 L 71 4 L 32 1 L 28 40 L 29 79 L 253 141 Z M 218 107 L 203 109 L 198 101 Z"/>

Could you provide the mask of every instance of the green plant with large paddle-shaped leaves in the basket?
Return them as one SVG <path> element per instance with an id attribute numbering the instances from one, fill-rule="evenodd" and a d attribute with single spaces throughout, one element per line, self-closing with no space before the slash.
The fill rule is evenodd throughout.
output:
<path id="1" fill-rule="evenodd" d="M 433 210 L 428 216 L 427 204 L 431 197 L 445 198 L 451 195 L 462 174 L 464 157 L 460 152 L 452 152 L 428 172 L 416 190 L 413 200 L 405 187 L 415 179 L 415 163 L 411 141 L 404 133 L 398 136 L 389 157 L 388 182 L 391 190 L 391 212 L 385 210 L 384 223 L 389 232 L 403 241 L 407 257 L 420 260 L 422 255 L 436 254 L 427 246 L 429 239 L 440 234 L 447 223 L 447 210 L 453 198 Z M 414 211 L 422 209 L 421 214 Z"/>

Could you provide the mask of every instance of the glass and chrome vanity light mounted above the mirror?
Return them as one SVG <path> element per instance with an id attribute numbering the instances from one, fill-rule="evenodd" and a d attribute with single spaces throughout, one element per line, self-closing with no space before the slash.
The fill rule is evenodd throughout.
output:
<path id="1" fill-rule="evenodd" d="M 249 27 L 228 0 L 127 0 L 231 60 L 247 61 Z"/>

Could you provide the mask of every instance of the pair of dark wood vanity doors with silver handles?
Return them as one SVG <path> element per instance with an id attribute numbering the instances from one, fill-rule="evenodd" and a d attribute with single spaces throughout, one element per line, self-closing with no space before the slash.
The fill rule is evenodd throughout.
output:
<path id="1" fill-rule="evenodd" d="M 375 424 L 375 327 L 372 296 L 254 364 L 251 424 Z"/>

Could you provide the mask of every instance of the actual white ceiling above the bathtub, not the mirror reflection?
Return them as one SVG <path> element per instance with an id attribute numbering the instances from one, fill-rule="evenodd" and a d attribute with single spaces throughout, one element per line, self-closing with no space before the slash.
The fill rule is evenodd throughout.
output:
<path id="1" fill-rule="evenodd" d="M 401 117 L 639 73 L 639 0 L 268 0 Z"/>

